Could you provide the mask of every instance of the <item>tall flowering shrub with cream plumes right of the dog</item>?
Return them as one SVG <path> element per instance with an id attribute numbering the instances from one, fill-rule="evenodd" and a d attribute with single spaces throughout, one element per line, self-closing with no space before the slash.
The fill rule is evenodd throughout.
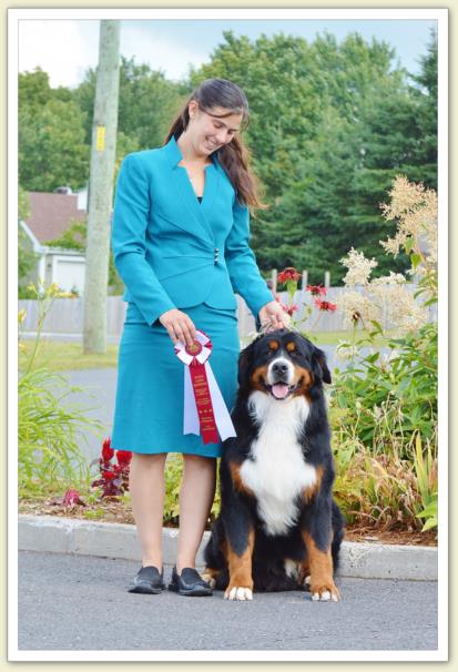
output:
<path id="1" fill-rule="evenodd" d="M 374 520 L 391 525 L 410 511 L 410 527 L 426 519 L 423 529 L 430 529 L 437 526 L 438 334 L 437 323 L 427 319 L 427 307 L 437 302 L 437 196 L 399 176 L 390 197 L 381 210 L 387 221 L 396 218 L 397 233 L 380 244 L 387 254 L 396 256 L 404 248 L 410 256 L 408 275 L 418 278 L 418 291 L 409 292 L 401 274 L 369 279 L 376 262 L 354 248 L 342 259 L 348 268 L 344 282 L 349 292 L 339 307 L 352 338 L 337 347 L 347 367 L 335 377 L 330 399 L 336 482 L 337 491 L 343 488 L 340 498 L 348 511 L 367 517 L 362 497 L 343 487 L 350 465 L 360 476 L 356 490 L 365 496 L 367 488 L 374 490 L 366 505 L 368 500 L 374 503 L 380 492 L 387 493 L 383 513 L 373 510 Z M 357 286 L 362 293 L 355 291 Z M 388 353 L 379 352 L 380 337 Z M 354 456 L 349 462 L 345 458 L 348 450 Z M 405 483 L 398 480 L 403 472 Z M 395 492 L 395 482 L 398 495 L 388 497 Z M 410 503 L 403 512 L 399 497 L 405 492 L 406 501 L 407 485 Z"/>

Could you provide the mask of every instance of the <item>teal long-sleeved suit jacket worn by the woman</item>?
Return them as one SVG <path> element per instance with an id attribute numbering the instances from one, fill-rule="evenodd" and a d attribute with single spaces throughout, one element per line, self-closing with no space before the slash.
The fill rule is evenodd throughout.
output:
<path id="1" fill-rule="evenodd" d="M 240 294 L 256 317 L 273 301 L 248 245 L 248 208 L 241 205 L 216 152 L 199 203 L 172 136 L 159 149 L 128 154 L 118 176 L 112 222 L 115 267 L 152 325 L 171 308 L 206 303 L 235 308 Z"/>

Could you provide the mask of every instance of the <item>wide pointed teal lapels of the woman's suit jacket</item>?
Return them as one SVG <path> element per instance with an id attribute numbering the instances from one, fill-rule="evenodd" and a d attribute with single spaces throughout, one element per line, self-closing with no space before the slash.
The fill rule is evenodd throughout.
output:
<path id="1" fill-rule="evenodd" d="M 212 212 L 221 180 L 220 171 L 217 170 L 216 165 L 216 157 L 212 155 L 212 164 L 205 167 L 204 194 L 202 203 L 199 203 L 197 196 L 195 195 L 194 189 L 187 176 L 186 169 L 179 165 L 180 161 L 183 159 L 183 155 L 173 135 L 167 144 L 164 145 L 163 151 L 166 154 L 172 171 L 172 183 L 175 186 L 175 191 L 182 198 L 187 212 L 191 215 L 189 226 L 183 226 L 181 223 L 175 223 L 176 226 L 180 226 L 185 231 L 190 231 L 197 237 L 204 238 L 212 244 L 212 247 L 214 247 L 215 241 L 212 226 L 208 221 L 208 215 Z"/>

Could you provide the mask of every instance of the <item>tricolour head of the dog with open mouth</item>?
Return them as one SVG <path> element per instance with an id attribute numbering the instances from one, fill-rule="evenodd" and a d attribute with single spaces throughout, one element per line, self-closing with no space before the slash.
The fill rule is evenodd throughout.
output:
<path id="1" fill-rule="evenodd" d="M 238 359 L 238 386 L 259 390 L 278 401 L 307 395 L 330 383 L 326 355 L 296 332 L 277 329 L 258 336 Z"/>

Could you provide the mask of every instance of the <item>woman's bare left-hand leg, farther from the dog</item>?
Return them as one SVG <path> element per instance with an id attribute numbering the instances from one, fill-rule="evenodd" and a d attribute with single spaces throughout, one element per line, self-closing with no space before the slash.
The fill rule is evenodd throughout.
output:
<path id="1" fill-rule="evenodd" d="M 132 455 L 129 489 L 136 530 L 142 544 L 142 567 L 162 570 L 164 516 L 164 464 L 166 452 Z"/>

